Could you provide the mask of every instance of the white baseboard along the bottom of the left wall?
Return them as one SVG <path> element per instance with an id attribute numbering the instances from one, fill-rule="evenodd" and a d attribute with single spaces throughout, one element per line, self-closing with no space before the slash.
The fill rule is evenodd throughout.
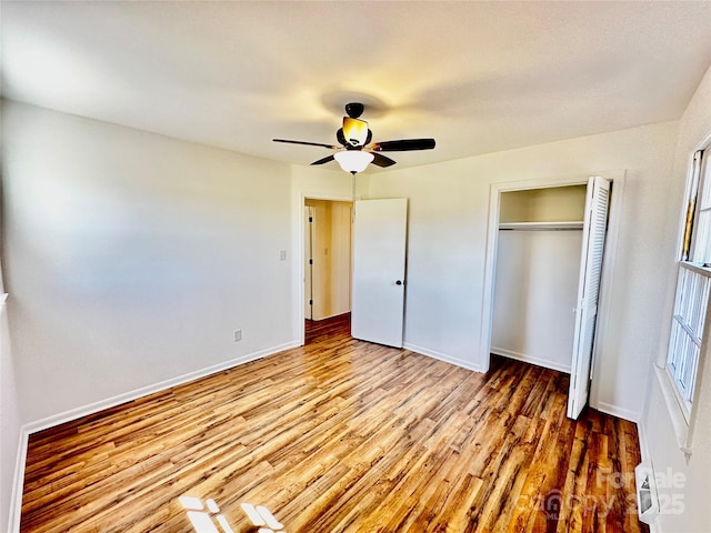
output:
<path id="1" fill-rule="evenodd" d="M 222 363 L 213 364 L 212 366 L 197 370 L 194 372 L 189 372 L 187 374 L 179 375 L 170 380 L 161 381 L 160 383 L 142 386 L 140 389 L 136 389 L 133 391 L 130 391 L 123 394 L 111 396 L 107 400 L 101 400 L 99 402 L 94 402 L 88 405 L 83 405 L 81 408 L 72 409 L 70 411 L 64 411 L 62 413 L 48 416 L 46 419 L 41 419 L 36 422 L 30 422 L 29 424 L 24 424 L 20 429 L 20 442 L 19 442 L 19 449 L 17 453 L 17 463 L 14 466 L 16 471 L 14 471 L 14 479 L 13 479 L 13 486 L 12 486 L 12 499 L 10 501 L 10 520 L 9 520 L 10 523 L 8 524 L 8 533 L 18 533 L 20 531 L 20 517 L 22 512 L 22 490 L 24 485 L 24 465 L 27 462 L 27 446 L 28 446 L 29 438 L 32 433 L 37 433 L 38 431 L 47 430 L 49 428 L 63 424 L 64 422 L 70 422 L 72 420 L 77 420 L 82 416 L 87 416 L 89 414 L 103 411 L 104 409 L 113 408 L 116 405 L 120 405 L 122 403 L 130 402 L 132 400 L 138 400 L 139 398 L 143 398 L 149 394 L 153 394 L 156 392 L 161 392 L 172 386 L 182 385 L 183 383 L 199 380 L 201 378 L 206 378 L 217 372 L 222 372 L 223 370 L 228 370 L 228 369 L 238 366 L 240 364 L 249 363 L 250 361 L 262 359 L 268 355 L 272 355 L 274 353 L 279 353 L 284 350 L 289 350 L 291 348 L 297 348 L 301 344 L 297 341 L 287 342 L 284 344 L 268 348 L 266 350 L 260 350 L 258 352 L 242 355 L 240 358 L 232 359 L 230 361 L 224 361 Z"/>

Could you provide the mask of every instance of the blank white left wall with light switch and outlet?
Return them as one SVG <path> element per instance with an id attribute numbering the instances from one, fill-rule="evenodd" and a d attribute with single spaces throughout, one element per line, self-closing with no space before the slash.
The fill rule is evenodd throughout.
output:
<path id="1" fill-rule="evenodd" d="M 293 343 L 290 165 L 13 102 L 2 112 L 23 422 Z"/>

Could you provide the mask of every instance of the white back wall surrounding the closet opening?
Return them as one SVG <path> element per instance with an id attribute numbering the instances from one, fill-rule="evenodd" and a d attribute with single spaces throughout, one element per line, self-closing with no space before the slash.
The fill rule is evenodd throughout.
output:
<path id="1" fill-rule="evenodd" d="M 470 368 L 480 349 L 484 250 L 492 183 L 627 169 L 609 328 L 601 339 L 593 405 L 638 420 L 650 353 L 657 350 L 667 282 L 669 175 L 677 122 L 570 139 L 373 175 L 373 198 L 408 197 L 405 344 Z M 445 142 L 445 140 L 438 140 Z M 613 191 L 614 194 L 614 191 Z"/>

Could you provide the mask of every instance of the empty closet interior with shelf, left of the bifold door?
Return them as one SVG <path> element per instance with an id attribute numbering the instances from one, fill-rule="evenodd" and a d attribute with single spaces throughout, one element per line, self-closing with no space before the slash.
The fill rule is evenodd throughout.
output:
<path id="1" fill-rule="evenodd" d="M 491 353 L 571 372 L 587 189 L 501 193 Z"/>

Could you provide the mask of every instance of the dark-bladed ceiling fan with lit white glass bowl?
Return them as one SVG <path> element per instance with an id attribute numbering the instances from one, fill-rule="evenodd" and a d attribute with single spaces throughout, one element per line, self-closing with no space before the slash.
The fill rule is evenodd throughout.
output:
<path id="1" fill-rule="evenodd" d="M 434 148 L 434 139 L 400 139 L 397 141 L 371 143 L 373 132 L 368 128 L 368 122 L 360 120 L 360 115 L 364 109 L 365 107 L 358 102 L 346 104 L 346 113 L 348 117 L 343 117 L 343 127 L 339 128 L 336 132 L 336 139 L 341 145 L 309 141 L 291 141 L 288 139 L 273 139 L 273 141 L 338 150 L 332 155 L 319 159 L 311 164 L 324 164 L 336 160 L 344 171 L 351 174 L 365 170 L 371 162 L 383 168 L 395 164 L 392 159 L 380 152 L 405 152 L 412 150 L 432 150 Z"/>

